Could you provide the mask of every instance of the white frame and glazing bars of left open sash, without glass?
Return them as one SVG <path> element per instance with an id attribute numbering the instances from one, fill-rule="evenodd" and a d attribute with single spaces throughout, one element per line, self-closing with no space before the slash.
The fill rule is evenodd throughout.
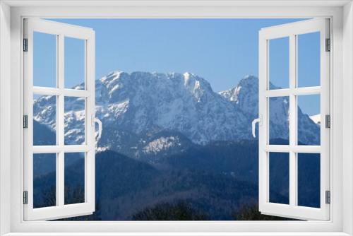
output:
<path id="1" fill-rule="evenodd" d="M 34 32 L 56 37 L 56 87 L 33 86 L 33 35 Z M 64 88 L 64 40 L 73 37 L 85 42 L 85 89 Z M 84 216 L 95 211 L 95 31 L 76 25 L 56 23 L 50 20 L 25 18 L 23 64 L 24 64 L 24 111 L 28 127 L 24 135 L 24 220 L 53 220 Z M 56 96 L 56 145 L 33 146 L 33 95 Z M 85 143 L 68 146 L 64 143 L 64 98 L 80 97 L 85 100 Z M 33 154 L 56 154 L 56 199 L 54 206 L 34 208 L 33 203 Z M 85 153 L 85 201 L 66 204 L 64 200 L 64 155 Z"/>

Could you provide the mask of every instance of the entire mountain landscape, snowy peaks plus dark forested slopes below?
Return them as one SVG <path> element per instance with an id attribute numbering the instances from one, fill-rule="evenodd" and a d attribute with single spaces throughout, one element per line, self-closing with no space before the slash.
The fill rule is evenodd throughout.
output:
<path id="1" fill-rule="evenodd" d="M 251 135 L 258 117 L 256 76 L 220 93 L 192 73 L 113 72 L 95 83 L 96 117 L 103 123 L 95 156 L 97 218 L 130 220 L 145 207 L 183 200 L 213 220 L 229 220 L 242 204 L 258 199 L 258 141 Z M 35 145 L 55 143 L 55 96 L 35 100 L 33 114 Z M 288 114 L 288 98 L 270 98 L 271 144 L 288 143 Z M 65 98 L 64 120 L 65 143 L 83 143 L 83 98 Z M 298 124 L 300 144 L 320 143 L 320 126 L 300 108 Z M 72 156 L 64 162 L 65 188 L 77 192 L 84 182 L 84 158 L 67 154 Z M 44 203 L 46 191 L 55 190 L 55 154 L 49 155 L 33 157 L 35 203 Z M 270 199 L 288 203 L 283 180 L 289 162 L 280 155 L 270 155 Z M 319 204 L 320 157 L 313 155 L 298 158 L 301 206 Z"/>

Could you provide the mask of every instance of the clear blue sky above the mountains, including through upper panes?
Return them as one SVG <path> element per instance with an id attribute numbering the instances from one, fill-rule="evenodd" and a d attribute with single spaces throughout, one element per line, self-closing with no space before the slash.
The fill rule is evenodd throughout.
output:
<path id="1" fill-rule="evenodd" d="M 92 28 L 96 33 L 96 78 L 110 71 L 196 73 L 219 92 L 241 78 L 258 76 L 258 31 L 302 19 L 50 19 Z M 319 33 L 299 35 L 299 87 L 320 85 Z M 47 57 L 35 55 L 34 85 L 50 84 L 55 64 L 54 40 L 37 40 Z M 83 40 L 66 38 L 65 87 L 83 81 Z M 36 42 L 35 42 L 36 43 Z M 52 51 L 51 51 L 52 50 Z M 52 58 L 52 59 L 49 59 Z M 45 69 L 39 70 L 40 66 Z M 43 68 L 43 67 L 42 67 Z M 289 47 L 285 39 L 270 42 L 270 81 L 287 88 Z M 36 84 L 37 83 L 37 84 Z M 315 96 L 313 96 L 315 97 Z M 317 97 L 317 96 L 316 96 Z M 308 99 L 301 99 L 306 101 Z M 300 102 L 308 114 L 320 113 L 318 98 Z"/>

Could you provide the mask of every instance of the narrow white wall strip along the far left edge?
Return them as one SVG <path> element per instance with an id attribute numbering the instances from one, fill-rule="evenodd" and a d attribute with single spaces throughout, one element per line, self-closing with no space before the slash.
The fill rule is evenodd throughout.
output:
<path id="1" fill-rule="evenodd" d="M 0 235 L 10 232 L 11 8 L 0 2 Z"/>

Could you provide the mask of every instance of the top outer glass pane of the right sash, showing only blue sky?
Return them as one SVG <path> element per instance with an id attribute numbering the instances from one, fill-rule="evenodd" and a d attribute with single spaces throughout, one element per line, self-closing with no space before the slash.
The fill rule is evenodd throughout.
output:
<path id="1" fill-rule="evenodd" d="M 297 35 L 298 87 L 320 86 L 320 32 Z"/>

